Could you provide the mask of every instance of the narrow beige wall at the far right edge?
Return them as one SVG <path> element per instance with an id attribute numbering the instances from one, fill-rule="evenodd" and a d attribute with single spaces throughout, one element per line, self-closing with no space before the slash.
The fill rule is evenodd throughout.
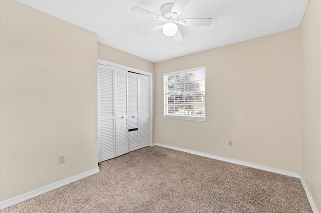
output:
<path id="1" fill-rule="evenodd" d="M 301 23 L 302 165 L 301 175 L 321 212 L 321 5 L 310 0 Z"/>

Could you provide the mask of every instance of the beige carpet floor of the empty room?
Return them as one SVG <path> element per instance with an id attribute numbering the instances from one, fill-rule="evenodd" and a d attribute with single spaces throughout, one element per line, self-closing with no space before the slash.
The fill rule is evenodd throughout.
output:
<path id="1" fill-rule="evenodd" d="M 1 212 L 312 212 L 299 179 L 160 146 Z"/>

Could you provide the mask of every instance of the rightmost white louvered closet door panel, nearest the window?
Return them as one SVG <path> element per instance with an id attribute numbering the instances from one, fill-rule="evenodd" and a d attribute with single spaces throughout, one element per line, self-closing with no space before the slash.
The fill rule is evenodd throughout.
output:
<path id="1" fill-rule="evenodd" d="M 149 76 L 139 76 L 139 148 L 149 146 Z"/>

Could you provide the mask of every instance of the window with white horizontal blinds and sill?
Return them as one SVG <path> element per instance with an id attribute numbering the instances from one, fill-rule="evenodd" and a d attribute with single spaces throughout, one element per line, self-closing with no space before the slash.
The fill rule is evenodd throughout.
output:
<path id="1" fill-rule="evenodd" d="M 205 67 L 164 73 L 164 118 L 205 117 Z"/>

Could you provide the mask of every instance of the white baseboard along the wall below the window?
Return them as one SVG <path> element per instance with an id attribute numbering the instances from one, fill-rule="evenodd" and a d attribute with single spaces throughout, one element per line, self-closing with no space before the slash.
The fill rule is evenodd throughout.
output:
<path id="1" fill-rule="evenodd" d="M 293 172 L 293 171 L 283 170 L 283 169 L 274 168 L 274 167 L 270 167 L 270 166 L 266 166 L 266 165 L 260 165 L 260 164 L 256 164 L 256 163 L 252 163 L 252 162 L 247 162 L 247 161 L 237 160 L 237 159 L 233 159 L 233 158 L 218 156 L 218 155 L 214 155 L 214 154 L 208 154 L 208 153 L 204 153 L 204 152 L 200 152 L 200 151 L 194 151 L 191 149 L 180 148 L 180 147 L 167 145 L 167 144 L 163 144 L 163 143 L 156 142 L 155 145 L 175 149 L 178 151 L 184 151 L 184 152 L 188 152 L 191 154 L 196 154 L 196 155 L 200 155 L 200 156 L 204 156 L 204 157 L 218 159 L 218 160 L 222 160 L 222 161 L 226 161 L 226 162 L 231 162 L 231 163 L 235 163 L 235 164 L 239 164 L 239 165 L 245 165 L 248 167 L 257 168 L 257 169 L 261 169 L 264 171 L 271 171 L 271 172 L 278 173 L 278 174 L 284 174 L 284 175 L 287 175 L 290 177 L 300 178 L 300 174 L 297 172 Z"/>

